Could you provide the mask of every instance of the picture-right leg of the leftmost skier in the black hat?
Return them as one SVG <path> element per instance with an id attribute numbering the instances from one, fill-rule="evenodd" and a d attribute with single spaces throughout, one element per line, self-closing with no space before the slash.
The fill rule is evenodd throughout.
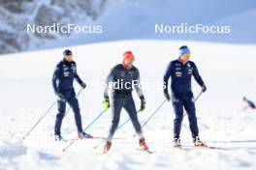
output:
<path id="1" fill-rule="evenodd" d="M 73 92 L 71 97 L 68 99 L 68 103 L 70 104 L 70 106 L 74 111 L 78 132 L 82 132 L 81 118 L 80 118 L 80 105 L 79 105 L 79 100 L 76 98 L 75 92 Z"/>

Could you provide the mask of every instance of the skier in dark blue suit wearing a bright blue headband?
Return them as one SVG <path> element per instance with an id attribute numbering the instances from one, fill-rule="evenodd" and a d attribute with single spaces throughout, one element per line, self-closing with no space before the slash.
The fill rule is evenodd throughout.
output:
<path id="1" fill-rule="evenodd" d="M 199 74 L 199 71 L 192 61 L 189 61 L 190 50 L 183 45 L 179 48 L 179 57 L 172 61 L 164 74 L 164 95 L 166 99 L 171 97 L 168 93 L 168 80 L 171 77 L 172 102 L 176 114 L 174 121 L 174 142 L 175 147 L 181 147 L 179 133 L 183 120 L 183 107 L 185 108 L 189 120 L 189 127 L 192 132 L 192 138 L 196 146 L 205 144 L 199 139 L 199 129 L 196 117 L 196 108 L 194 97 L 191 90 L 191 78 L 194 76 L 197 83 L 206 92 L 207 87 Z"/>

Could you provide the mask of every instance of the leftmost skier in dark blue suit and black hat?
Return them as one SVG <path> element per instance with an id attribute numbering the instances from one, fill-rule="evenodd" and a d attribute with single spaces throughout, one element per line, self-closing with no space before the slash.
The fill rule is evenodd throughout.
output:
<path id="1" fill-rule="evenodd" d="M 91 136 L 82 131 L 80 106 L 79 101 L 76 98 L 73 82 L 74 79 L 76 79 L 83 89 L 86 87 L 86 84 L 80 79 L 80 76 L 77 72 L 77 65 L 76 62 L 73 61 L 72 51 L 66 49 L 64 50 L 63 55 L 64 59 L 57 64 L 52 77 L 53 90 L 55 95 L 58 97 L 58 114 L 56 115 L 54 127 L 55 140 L 61 141 L 63 139 L 61 136 L 60 128 L 66 112 L 66 102 L 69 103 L 75 113 L 75 120 L 80 139 L 89 138 Z"/>

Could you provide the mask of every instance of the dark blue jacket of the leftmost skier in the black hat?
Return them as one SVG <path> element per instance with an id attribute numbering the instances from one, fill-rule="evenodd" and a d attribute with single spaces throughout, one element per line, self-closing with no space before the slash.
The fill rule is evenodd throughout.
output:
<path id="1" fill-rule="evenodd" d="M 76 62 L 68 62 L 65 59 L 60 61 L 53 73 L 52 86 L 55 93 L 72 90 L 74 79 L 80 84 L 83 83 L 77 72 Z"/>

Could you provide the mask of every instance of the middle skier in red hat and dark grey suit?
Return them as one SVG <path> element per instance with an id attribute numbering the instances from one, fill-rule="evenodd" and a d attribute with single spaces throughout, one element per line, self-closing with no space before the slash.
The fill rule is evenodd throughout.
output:
<path id="1" fill-rule="evenodd" d="M 112 136 L 115 129 L 118 127 L 120 112 L 124 108 L 132 121 L 132 124 L 139 136 L 139 144 L 147 150 L 147 146 L 144 141 L 144 134 L 142 127 L 139 123 L 135 102 L 132 97 L 133 87 L 135 88 L 138 96 L 141 99 L 141 110 L 144 110 L 144 94 L 140 85 L 140 73 L 139 70 L 133 66 L 134 55 L 131 51 L 126 51 L 123 54 L 122 64 L 118 64 L 112 68 L 112 71 L 107 77 L 107 88 L 104 92 L 105 106 L 109 108 L 112 105 L 112 126 L 110 128 L 110 134 L 107 143 L 104 147 L 104 153 L 107 153 L 112 146 Z M 112 84 L 111 84 L 112 83 Z M 112 85 L 112 104 L 110 104 L 109 98 L 109 85 Z"/>

